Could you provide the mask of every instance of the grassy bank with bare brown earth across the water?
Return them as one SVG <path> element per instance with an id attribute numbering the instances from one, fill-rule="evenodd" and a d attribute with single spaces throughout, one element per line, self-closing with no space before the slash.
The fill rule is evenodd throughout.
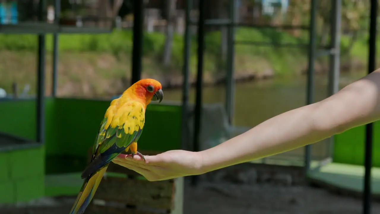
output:
<path id="1" fill-rule="evenodd" d="M 306 44 L 307 36 L 293 37 L 274 29 L 237 29 L 237 41 Z M 220 34 L 206 35 L 205 79 L 213 81 L 225 72 L 225 62 L 220 57 Z M 348 38 L 342 38 L 342 50 L 347 48 Z M 367 40 L 356 42 L 351 56 L 342 58 L 342 64 L 355 61 L 366 64 Z M 143 76 L 159 78 L 166 83 L 180 82 L 183 64 L 183 37 L 176 35 L 173 41 L 170 66 L 162 66 L 165 35 L 145 34 Z M 52 36 L 47 35 L 47 85 L 51 85 Z M 35 83 L 37 37 L 35 35 L 0 34 L 0 87 L 11 89 L 13 82 L 24 85 Z M 60 35 L 59 37 L 59 92 L 78 95 L 106 95 L 122 91 L 128 85 L 131 68 L 132 32 L 116 30 L 112 34 Z M 235 69 L 237 77 L 263 75 L 293 75 L 307 67 L 305 48 L 279 46 L 236 45 Z M 192 37 L 190 71 L 196 72 L 196 36 Z M 321 58 L 316 68 L 326 67 Z M 109 85 L 112 85 L 110 89 Z"/>

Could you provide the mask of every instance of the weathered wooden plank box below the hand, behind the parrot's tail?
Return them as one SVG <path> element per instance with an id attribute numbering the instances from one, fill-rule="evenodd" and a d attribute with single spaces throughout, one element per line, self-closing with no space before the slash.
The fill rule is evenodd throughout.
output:
<path id="1" fill-rule="evenodd" d="M 141 151 L 144 155 L 161 152 Z M 89 150 L 91 157 L 92 148 Z M 182 214 L 184 178 L 148 181 L 137 172 L 110 163 L 87 214 Z"/>

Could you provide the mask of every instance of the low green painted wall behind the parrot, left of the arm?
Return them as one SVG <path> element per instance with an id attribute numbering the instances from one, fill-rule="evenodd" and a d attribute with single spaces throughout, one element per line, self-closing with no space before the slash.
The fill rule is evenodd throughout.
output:
<path id="1" fill-rule="evenodd" d="M 82 171 L 109 103 L 47 98 L 45 145 L 0 152 L 3 169 L 0 171 L 0 203 L 28 201 L 45 195 L 45 174 Z M 0 112 L 0 132 L 35 140 L 34 100 L 0 101 Z M 139 150 L 179 149 L 180 118 L 180 106 L 150 104 Z"/>

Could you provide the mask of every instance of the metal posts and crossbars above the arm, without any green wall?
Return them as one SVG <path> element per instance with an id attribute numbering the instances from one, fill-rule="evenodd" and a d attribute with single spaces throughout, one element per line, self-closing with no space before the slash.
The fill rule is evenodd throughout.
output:
<path id="1" fill-rule="evenodd" d="M 340 55 L 340 13 L 341 13 L 341 1 L 332 1 L 331 2 L 331 17 L 332 24 L 331 24 L 331 43 L 327 47 L 317 47 L 316 43 L 316 10 L 317 10 L 317 2 L 311 1 L 310 2 L 310 24 L 309 25 L 301 25 L 301 26 L 290 26 L 290 25 L 268 25 L 268 24 L 252 24 L 252 23 L 243 23 L 237 21 L 237 14 L 239 9 L 239 4 L 241 4 L 242 1 L 240 0 L 230 0 L 229 1 L 229 18 L 228 19 L 205 19 L 206 15 L 204 14 L 205 10 L 205 4 L 206 2 L 197 2 L 197 1 L 186 1 L 186 30 L 185 30 L 185 50 L 184 50 L 184 74 L 183 74 L 183 108 L 184 108 L 184 120 L 187 120 L 185 115 L 188 110 L 188 97 L 189 97 L 189 83 L 188 83 L 188 71 L 189 71 L 189 47 L 190 44 L 190 26 L 196 26 L 198 25 L 198 74 L 197 74 L 197 90 L 196 90 L 196 104 L 195 104 L 195 130 L 193 133 L 193 136 L 199 136 L 199 133 L 201 132 L 202 128 L 200 127 L 200 119 L 201 118 L 201 100 L 202 100 L 202 82 L 203 82 L 203 53 L 204 53 L 204 28 L 206 26 L 217 26 L 217 27 L 226 27 L 228 30 L 228 50 L 227 50 L 227 62 L 226 62 L 226 74 L 225 74 L 225 111 L 228 118 L 228 122 L 230 124 L 230 128 L 234 128 L 234 113 L 235 113 L 235 73 L 234 73 L 234 49 L 236 46 L 244 45 L 244 46 L 276 46 L 277 48 L 301 48 L 304 50 L 308 50 L 309 53 L 309 62 L 308 62 L 308 69 L 307 69 L 307 97 L 306 97 L 306 104 L 311 104 L 315 100 L 315 80 L 314 80 L 314 67 L 315 67 L 315 60 L 317 57 L 321 56 L 328 56 L 330 58 L 330 66 L 329 66 L 329 84 L 328 84 L 328 95 L 334 94 L 336 91 L 338 91 L 339 86 L 339 55 Z M 195 6 L 197 8 L 195 8 Z M 198 21 L 193 20 L 190 17 L 190 14 L 192 11 L 198 11 Z M 203 11 L 203 12 L 202 12 Z M 307 44 L 295 44 L 295 43 L 266 43 L 261 41 L 251 41 L 251 40 L 236 40 L 235 39 L 235 31 L 238 27 L 250 27 L 250 28 L 257 28 L 257 29 L 268 29 L 268 28 L 274 28 L 274 29 L 301 29 L 306 30 L 309 32 L 309 43 Z M 198 119 L 197 119 L 198 118 Z M 184 124 L 187 124 L 187 122 L 184 121 Z M 247 129 L 246 129 L 247 130 Z M 184 137 L 186 138 L 186 137 Z M 328 145 L 328 151 L 326 151 L 327 155 L 324 157 L 314 157 L 312 158 L 312 146 L 307 145 L 305 147 L 304 160 L 297 160 L 299 163 L 299 166 L 305 166 L 305 170 L 309 171 L 310 164 L 313 162 L 315 164 L 320 163 L 326 163 L 331 161 L 332 157 L 335 156 L 333 144 L 334 138 L 332 137 L 329 139 Z M 193 149 L 197 150 L 199 148 L 199 140 L 195 137 L 195 142 L 193 142 Z M 331 148 L 331 149 L 330 149 Z M 337 150 L 339 151 L 339 149 Z M 339 153 L 339 152 L 337 152 Z M 265 160 L 271 159 L 266 158 Z M 299 159 L 299 158 L 298 158 Z M 264 160 L 264 159 L 263 159 Z M 260 161 L 263 161 L 260 160 Z M 313 161 L 312 161 L 313 160 Z M 278 163 L 284 163 L 286 160 L 280 160 L 275 161 Z M 294 163 L 291 163 L 294 164 Z"/>

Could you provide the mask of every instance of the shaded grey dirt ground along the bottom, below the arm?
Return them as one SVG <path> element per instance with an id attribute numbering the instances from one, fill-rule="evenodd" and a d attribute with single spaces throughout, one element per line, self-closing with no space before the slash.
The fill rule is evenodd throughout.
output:
<path id="1" fill-rule="evenodd" d="M 1 214 L 67 214 L 74 198 L 41 199 L 30 204 L 0 207 Z M 273 184 L 209 184 L 185 186 L 184 214 L 360 214 L 361 200 L 322 188 Z M 42 207 L 41 204 L 44 204 Z M 372 203 L 380 213 L 380 203 Z"/>

